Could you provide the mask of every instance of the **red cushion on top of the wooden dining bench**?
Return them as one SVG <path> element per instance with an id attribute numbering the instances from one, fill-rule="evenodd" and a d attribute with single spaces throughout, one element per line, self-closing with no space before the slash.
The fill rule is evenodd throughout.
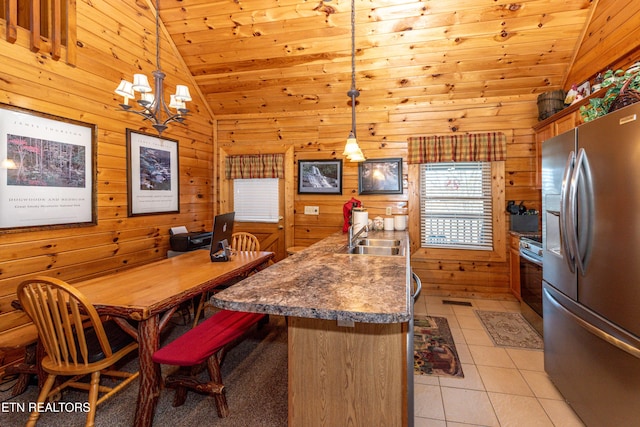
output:
<path id="1" fill-rule="evenodd" d="M 153 354 L 167 365 L 198 365 L 244 334 L 265 314 L 221 310 Z"/>

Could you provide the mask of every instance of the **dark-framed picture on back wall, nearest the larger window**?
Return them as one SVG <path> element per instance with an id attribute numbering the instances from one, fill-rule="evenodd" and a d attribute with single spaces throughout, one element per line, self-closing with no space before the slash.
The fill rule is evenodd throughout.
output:
<path id="1" fill-rule="evenodd" d="M 402 159 L 372 159 L 360 163 L 358 194 L 402 194 Z"/>

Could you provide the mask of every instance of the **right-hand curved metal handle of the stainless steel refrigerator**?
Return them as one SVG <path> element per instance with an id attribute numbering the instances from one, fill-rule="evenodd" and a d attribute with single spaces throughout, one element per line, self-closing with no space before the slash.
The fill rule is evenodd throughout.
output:
<path id="1" fill-rule="evenodd" d="M 589 159 L 587 158 L 587 152 L 584 148 L 580 148 L 578 150 L 574 174 L 576 176 L 576 189 L 572 189 L 572 191 L 577 192 L 577 186 L 579 183 L 583 184 L 585 190 L 585 197 L 580 199 L 580 205 L 583 208 L 580 211 L 580 221 L 584 221 L 586 224 L 586 234 L 578 235 L 577 230 L 575 233 L 576 264 L 578 266 L 578 271 L 580 271 L 580 274 L 584 276 L 591 258 L 591 241 L 593 235 L 593 182 Z M 573 218 L 576 218 L 575 214 L 573 215 Z M 585 230 L 583 227 L 581 227 L 581 229 Z"/>

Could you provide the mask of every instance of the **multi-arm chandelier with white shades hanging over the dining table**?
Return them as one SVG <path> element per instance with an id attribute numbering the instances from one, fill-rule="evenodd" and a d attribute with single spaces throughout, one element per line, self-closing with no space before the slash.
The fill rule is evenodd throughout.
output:
<path id="1" fill-rule="evenodd" d="M 151 125 L 158 131 L 158 134 L 167 129 L 167 124 L 171 122 L 182 123 L 189 113 L 186 102 L 191 101 L 189 88 L 185 85 L 177 85 L 176 93 L 171 95 L 169 106 L 164 100 L 164 78 L 165 74 L 160 68 L 160 0 L 156 1 L 156 70 L 152 73 L 155 89 L 149 86 L 149 80 L 144 74 L 134 74 L 133 83 L 122 80 L 115 92 L 124 97 L 120 104 L 123 111 L 135 113 L 149 120 Z M 142 107 L 140 110 L 132 109 L 129 99 L 135 100 L 135 92 L 140 93 L 140 98 L 136 101 Z M 173 108 L 175 112 L 171 111 Z"/>

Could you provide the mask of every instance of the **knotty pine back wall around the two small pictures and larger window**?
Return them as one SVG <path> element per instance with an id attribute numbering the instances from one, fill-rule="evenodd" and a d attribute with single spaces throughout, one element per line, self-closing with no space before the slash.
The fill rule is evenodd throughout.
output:
<path id="1" fill-rule="evenodd" d="M 366 93 L 360 96 L 357 109 L 359 144 L 368 159 L 401 157 L 405 159 L 403 173 L 411 176 L 406 164 L 407 138 L 416 135 L 456 132 L 499 131 L 507 135 L 505 162 L 505 198 L 517 200 L 540 209 L 540 192 L 535 188 L 535 143 L 531 127 L 537 121 L 534 96 L 506 96 L 500 99 L 469 99 L 433 103 L 428 109 L 395 113 L 367 108 Z M 372 104 L 376 101 L 372 100 Z M 252 115 L 217 116 L 218 143 L 221 148 L 246 146 L 247 151 L 259 151 L 257 142 L 292 145 L 295 159 L 342 159 L 342 150 L 351 127 L 351 112 L 325 111 L 317 114 L 288 113 L 255 117 Z M 413 173 L 415 175 L 415 173 Z M 297 179 L 297 166 L 295 170 Z M 412 181 L 410 179 L 410 181 Z M 296 186 L 297 188 L 297 186 Z M 342 207 L 351 197 L 360 200 L 369 210 L 369 217 L 385 216 L 386 207 L 394 213 L 409 213 L 414 196 L 415 180 L 408 183 L 401 195 L 358 195 L 358 166 L 345 162 L 342 195 L 296 194 L 296 246 L 307 246 L 341 229 Z M 320 215 L 304 215 L 304 206 L 319 206 Z M 505 214 L 505 224 L 509 221 Z M 415 228 L 417 224 L 410 224 Z M 419 234 L 412 240 L 417 242 Z M 504 243 L 504 242 L 502 242 Z M 506 244 L 504 252 L 506 253 Z M 461 251 L 464 252 L 464 251 Z M 506 258 L 505 258 L 506 259 Z M 423 279 L 426 289 L 448 294 L 508 294 L 509 265 L 507 261 L 464 259 L 447 261 L 430 256 L 425 261 L 412 260 L 413 269 Z"/>

